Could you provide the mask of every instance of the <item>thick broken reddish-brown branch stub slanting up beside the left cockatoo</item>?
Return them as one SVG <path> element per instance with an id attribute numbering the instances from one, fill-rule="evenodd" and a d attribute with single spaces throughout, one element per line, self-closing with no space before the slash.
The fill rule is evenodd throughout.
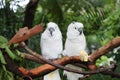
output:
<path id="1" fill-rule="evenodd" d="M 28 29 L 28 27 L 21 28 L 16 35 L 8 42 L 8 44 L 20 43 L 27 40 L 28 38 L 42 32 L 43 27 L 41 24 L 35 25 L 33 28 Z"/>

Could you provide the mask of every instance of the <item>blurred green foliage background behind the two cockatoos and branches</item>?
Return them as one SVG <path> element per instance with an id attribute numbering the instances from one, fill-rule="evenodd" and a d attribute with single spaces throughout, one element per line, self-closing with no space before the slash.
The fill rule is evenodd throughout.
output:
<path id="1" fill-rule="evenodd" d="M 0 35 L 11 39 L 14 34 L 25 25 L 25 7 L 17 3 L 25 0 L 0 0 Z M 38 0 L 31 0 L 38 1 Z M 14 4 L 11 4 L 14 2 Z M 17 9 L 14 9 L 14 5 Z M 32 10 L 32 8 L 31 8 Z M 73 21 L 79 21 L 84 24 L 84 34 L 87 39 L 89 52 L 93 52 L 99 47 L 105 45 L 113 38 L 120 36 L 120 0 L 39 0 L 35 8 L 34 18 L 29 28 L 36 24 L 42 23 L 44 29 L 46 23 L 56 22 L 63 35 L 63 42 L 66 39 L 68 25 Z M 28 46 L 40 53 L 40 34 L 33 36 L 27 41 Z M 108 57 L 115 56 L 117 62 L 116 71 L 120 72 L 120 48 L 115 49 Z M 29 63 L 28 63 L 29 62 Z M 23 60 L 21 62 L 26 68 L 39 66 L 39 64 Z M 34 65 L 33 65 L 34 64 Z M 1 80 L 6 76 L 2 76 Z M 12 74 L 13 75 L 13 74 Z M 9 80 L 13 80 L 11 77 Z M 97 74 L 86 80 L 119 80 L 111 76 Z M 40 80 L 38 78 L 37 80 Z M 62 78 L 62 80 L 65 80 Z"/>

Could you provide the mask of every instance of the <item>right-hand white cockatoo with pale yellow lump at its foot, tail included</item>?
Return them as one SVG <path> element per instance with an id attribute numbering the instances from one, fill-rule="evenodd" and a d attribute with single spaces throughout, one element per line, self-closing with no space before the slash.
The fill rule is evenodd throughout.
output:
<path id="1" fill-rule="evenodd" d="M 67 39 L 65 42 L 65 50 L 63 55 L 65 56 L 80 56 L 81 61 L 88 60 L 88 54 L 85 52 L 86 49 L 86 38 L 83 33 L 83 24 L 80 22 L 72 22 L 69 24 L 67 29 Z M 72 69 L 82 70 L 82 68 L 77 67 L 72 64 L 66 65 Z M 67 76 L 68 80 L 79 80 L 83 77 L 82 74 L 77 74 L 73 72 L 64 71 L 64 75 Z"/>

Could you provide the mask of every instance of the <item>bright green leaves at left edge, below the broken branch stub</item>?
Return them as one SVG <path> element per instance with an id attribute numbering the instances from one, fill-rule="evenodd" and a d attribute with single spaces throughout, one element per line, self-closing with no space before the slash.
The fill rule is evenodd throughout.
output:
<path id="1" fill-rule="evenodd" d="M 11 59 L 20 61 L 21 58 L 21 52 L 20 51 L 14 51 L 16 53 L 13 53 L 13 50 L 11 50 L 12 46 L 7 45 L 8 40 L 0 36 L 0 80 L 14 80 L 14 74 L 9 72 L 5 65 L 7 64 L 5 57 L 3 55 L 8 55 Z M 15 46 L 14 46 L 15 47 Z"/>

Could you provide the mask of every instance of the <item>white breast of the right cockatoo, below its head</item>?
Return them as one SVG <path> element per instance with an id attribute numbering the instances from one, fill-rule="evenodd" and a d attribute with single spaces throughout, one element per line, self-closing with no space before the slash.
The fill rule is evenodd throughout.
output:
<path id="1" fill-rule="evenodd" d="M 67 56 L 79 56 L 81 50 L 86 48 L 86 39 L 84 36 L 76 39 L 67 39 L 65 43 L 65 55 Z"/>

